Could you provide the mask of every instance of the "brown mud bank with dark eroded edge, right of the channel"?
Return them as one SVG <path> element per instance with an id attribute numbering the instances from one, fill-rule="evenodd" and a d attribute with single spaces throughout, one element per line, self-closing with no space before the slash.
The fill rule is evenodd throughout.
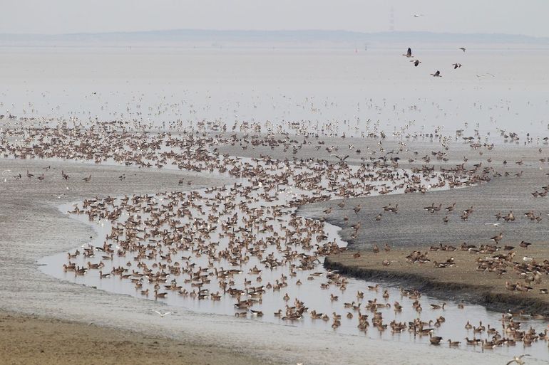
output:
<path id="1" fill-rule="evenodd" d="M 525 255 L 532 258 L 549 257 L 549 249 L 545 245 L 536 246 L 530 249 L 515 249 L 516 257 L 520 255 L 520 260 Z M 478 270 L 478 258 L 491 257 L 490 254 L 473 254 L 463 250 L 431 251 L 429 248 L 423 248 L 421 252 L 426 253 L 430 261 L 420 264 L 409 263 L 406 260 L 406 256 L 411 252 L 412 250 L 403 248 L 389 252 L 384 252 L 381 248 L 379 253 L 349 250 L 330 255 L 324 266 L 365 280 L 399 282 L 406 289 L 418 289 L 441 299 L 484 305 L 490 310 L 548 314 L 549 295 L 540 291 L 548 289 L 547 282 L 531 282 L 529 286 L 533 289 L 528 292 L 510 291 L 506 288 L 506 281 L 513 284 L 523 282 L 524 275 L 513 273 L 513 270 L 508 270 L 508 273 L 503 275 Z M 356 257 L 356 253 L 360 256 Z M 448 260 L 452 260 L 453 265 L 445 268 L 435 265 L 444 264 Z"/>

